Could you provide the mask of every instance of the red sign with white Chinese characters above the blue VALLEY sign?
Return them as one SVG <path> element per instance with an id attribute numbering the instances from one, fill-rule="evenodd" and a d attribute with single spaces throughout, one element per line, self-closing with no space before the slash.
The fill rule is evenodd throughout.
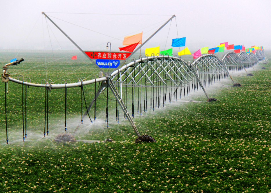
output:
<path id="1" fill-rule="evenodd" d="M 131 52 L 91 52 L 84 51 L 91 59 L 117 59 L 126 60 Z"/>

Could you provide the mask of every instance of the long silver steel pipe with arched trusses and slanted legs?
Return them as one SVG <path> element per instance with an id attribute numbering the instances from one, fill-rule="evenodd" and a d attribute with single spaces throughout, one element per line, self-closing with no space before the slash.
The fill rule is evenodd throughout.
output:
<path id="1" fill-rule="evenodd" d="M 130 63 L 124 63 L 124 65 L 122 65 L 122 67 L 119 69 L 113 71 L 112 73 L 105 74 L 105 77 L 81 81 L 78 83 L 34 84 L 12 79 L 11 77 L 9 77 L 9 80 L 34 87 L 48 87 L 49 89 L 71 88 L 101 82 L 100 88 L 98 88 L 94 99 L 87 108 L 88 111 L 103 90 L 110 88 L 111 92 L 116 98 L 117 103 L 123 110 L 125 118 L 129 120 L 133 130 L 138 136 L 140 136 L 136 125 L 132 120 L 132 118 L 135 116 L 136 102 L 139 109 L 139 101 L 135 100 L 134 95 L 143 93 L 143 91 L 142 93 L 139 92 L 139 88 L 145 89 L 144 95 L 146 97 L 146 101 L 144 101 L 144 112 L 147 112 L 147 97 L 149 96 L 151 97 L 150 108 L 154 110 L 154 103 L 155 106 L 158 104 L 158 108 L 160 105 L 164 106 L 166 98 L 168 98 L 168 100 L 171 102 L 172 95 L 173 99 L 175 98 L 177 100 L 177 90 L 179 90 L 180 97 L 183 94 L 185 95 L 185 93 L 188 95 L 188 93 L 193 91 L 193 89 L 197 90 L 199 87 L 205 92 L 204 87 L 207 85 L 212 84 L 218 79 L 227 78 L 228 75 L 230 76 L 229 70 L 241 70 L 245 67 L 253 67 L 253 65 L 261 60 L 267 60 L 264 51 L 261 50 L 256 51 L 255 54 L 245 54 L 245 52 L 241 52 L 239 56 L 235 52 L 228 52 L 225 54 L 222 60 L 215 54 L 203 54 L 191 65 L 180 57 L 151 56 L 145 58 L 140 57 L 137 60 L 133 59 Z M 230 78 L 232 79 L 231 76 Z M 122 87 L 124 87 L 126 97 L 122 96 Z M 138 92 L 136 93 L 135 88 L 137 87 Z M 133 98 L 131 115 L 128 112 L 127 105 L 127 90 L 129 89 L 132 91 Z M 148 89 L 150 92 L 148 92 Z M 167 97 L 167 91 L 169 91 L 169 97 Z M 205 94 L 206 97 L 209 98 L 206 92 Z M 160 102 L 161 98 L 162 103 Z"/>

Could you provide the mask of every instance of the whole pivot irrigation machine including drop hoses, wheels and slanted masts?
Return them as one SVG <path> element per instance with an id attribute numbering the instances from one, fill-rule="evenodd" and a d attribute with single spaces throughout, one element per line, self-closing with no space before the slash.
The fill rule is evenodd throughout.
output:
<path id="1" fill-rule="evenodd" d="M 44 16 L 49 19 L 83 54 L 88 55 L 83 51 L 68 35 L 61 30 L 57 24 L 55 24 L 44 12 Z M 144 43 L 142 43 L 127 60 L 138 51 L 147 41 L 149 41 L 159 30 L 161 30 L 169 21 L 171 21 L 175 15 L 173 15 L 168 21 L 166 21 L 156 32 L 154 32 Z M 89 58 L 89 57 L 88 57 Z M 89 58 L 92 60 L 91 58 Z M 27 136 L 26 128 L 26 86 L 32 87 L 44 87 L 45 88 L 45 117 L 44 117 L 44 137 L 46 136 L 46 128 L 48 135 L 48 91 L 52 89 L 64 89 L 65 90 L 65 131 L 66 127 L 66 92 L 67 88 L 80 87 L 81 88 L 81 112 L 83 109 L 83 98 L 85 103 L 86 112 L 82 113 L 81 122 L 83 118 L 89 114 L 90 109 L 94 105 L 94 121 L 96 119 L 96 102 L 99 95 L 106 90 L 106 123 L 108 127 L 109 113 L 108 113 L 108 92 L 113 93 L 116 99 L 116 121 L 119 122 L 119 108 L 124 113 L 124 118 L 128 119 L 134 132 L 138 136 L 136 141 L 155 141 L 151 136 L 140 135 L 136 124 L 133 122 L 133 118 L 136 114 L 142 115 L 143 112 L 160 108 L 164 106 L 166 101 L 177 101 L 178 97 L 182 97 L 190 94 L 191 91 L 202 89 L 207 97 L 207 101 L 216 101 L 214 98 L 209 98 L 205 91 L 205 87 L 211 85 L 215 81 L 230 76 L 230 71 L 246 70 L 246 68 L 253 68 L 254 65 L 260 61 L 267 61 L 267 57 L 264 54 L 264 50 L 257 50 L 254 53 L 246 54 L 245 52 L 237 55 L 235 52 L 228 52 L 220 59 L 215 54 L 203 54 L 198 57 L 193 63 L 186 62 L 179 56 L 173 55 L 159 55 L 155 56 L 140 56 L 139 59 L 133 58 L 131 62 L 125 61 L 121 67 L 115 69 L 113 72 L 99 73 L 99 77 L 92 80 L 78 79 L 76 83 L 64 84 L 52 84 L 46 81 L 45 84 L 35 84 L 27 81 L 22 81 L 10 77 L 7 73 L 8 66 L 17 65 L 24 59 L 20 59 L 3 66 L 2 81 L 5 83 L 5 112 L 6 112 L 6 141 L 8 143 L 8 124 L 7 124 L 7 82 L 12 81 L 22 84 L 22 114 L 23 114 L 23 141 Z M 91 103 L 87 106 L 84 95 L 84 86 L 89 84 L 95 84 L 95 96 Z M 96 84 L 97 86 L 96 90 Z M 239 83 L 237 83 L 239 84 Z M 24 96 L 25 85 L 25 96 Z M 241 86 L 239 84 L 239 86 Z M 173 99 L 172 99 L 173 98 Z M 25 102 L 24 102 L 25 99 Z M 127 104 L 128 101 L 128 104 Z M 131 101 L 131 103 L 130 103 Z M 129 113 L 128 108 L 131 107 Z M 25 120 L 25 121 L 24 121 Z M 92 122 L 92 120 L 91 120 Z"/>

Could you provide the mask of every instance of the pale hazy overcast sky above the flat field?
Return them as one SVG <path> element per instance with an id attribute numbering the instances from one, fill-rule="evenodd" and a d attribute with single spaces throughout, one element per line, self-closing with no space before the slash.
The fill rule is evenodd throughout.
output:
<path id="1" fill-rule="evenodd" d="M 186 37 L 190 50 L 212 48 L 226 41 L 246 48 L 257 45 L 271 49 L 270 10 L 270 0 L 2 0 L 0 49 L 50 50 L 52 44 L 54 50 L 76 50 L 44 19 L 43 11 L 83 50 L 105 50 L 110 41 L 111 49 L 117 51 L 123 47 L 124 36 L 140 32 L 144 41 L 174 14 L 176 20 L 169 22 L 144 48 L 160 45 L 160 50 L 169 49 L 173 38 Z"/>

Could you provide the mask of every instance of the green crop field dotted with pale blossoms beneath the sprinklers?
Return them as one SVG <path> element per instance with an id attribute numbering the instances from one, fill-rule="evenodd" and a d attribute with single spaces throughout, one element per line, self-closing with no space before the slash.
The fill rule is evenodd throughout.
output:
<path id="1" fill-rule="evenodd" d="M 14 53 L 1 52 L 1 63 L 8 63 L 12 56 Z M 31 57 L 29 61 L 33 62 L 24 61 L 25 65 L 10 68 L 10 73 L 21 72 L 36 83 L 46 78 L 46 68 L 53 81 L 65 75 L 63 69 L 73 72 L 82 67 L 63 78 L 73 82 L 96 73 L 83 59 L 76 61 L 77 65 L 62 61 L 46 68 L 33 68 L 44 61 L 41 53 Z M 115 123 L 115 101 L 109 104 L 111 119 L 106 129 L 103 95 L 97 103 L 100 123 L 94 123 L 92 128 L 86 126 L 90 124 L 85 118 L 86 122 L 80 125 L 80 88 L 68 89 L 68 132 L 77 140 L 111 137 L 115 142 L 53 140 L 64 132 L 64 90 L 50 92 L 49 136 L 43 138 L 45 89 L 40 88 L 27 88 L 29 137 L 22 142 L 21 85 L 9 82 L 10 144 L 6 145 L 1 82 L 0 192 L 271 192 L 271 66 L 268 62 L 254 68 L 255 71 L 249 69 L 254 76 L 245 76 L 245 72 L 233 76 L 235 82 L 242 84 L 241 88 L 207 89 L 209 95 L 218 99 L 216 102 L 175 102 L 154 113 L 136 115 L 139 132 L 157 140 L 140 144 L 134 143 L 136 135 L 123 116 L 120 124 Z M 93 98 L 93 89 L 94 85 L 85 88 L 87 103 Z M 188 99 L 206 101 L 203 92 L 198 92 Z M 93 117 L 93 111 L 91 114 Z"/>

